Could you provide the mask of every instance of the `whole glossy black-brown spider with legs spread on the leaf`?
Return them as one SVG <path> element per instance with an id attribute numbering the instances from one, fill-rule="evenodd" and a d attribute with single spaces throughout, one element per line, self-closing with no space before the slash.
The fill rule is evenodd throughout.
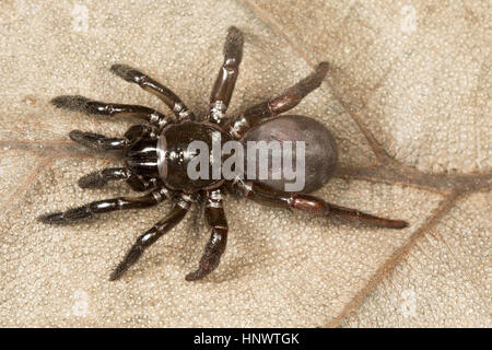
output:
<path id="1" fill-rule="evenodd" d="M 172 230 L 186 215 L 192 203 L 204 205 L 204 217 L 210 226 L 210 240 L 204 247 L 198 268 L 186 276 L 186 280 L 202 279 L 212 272 L 221 260 L 227 242 L 227 221 L 223 209 L 226 194 L 242 195 L 265 206 L 307 212 L 314 215 L 339 215 L 372 223 L 378 226 L 402 229 L 408 224 L 401 220 L 377 218 L 361 211 L 331 205 L 308 195 L 323 186 L 337 163 L 337 149 L 330 132 L 318 121 L 303 116 L 276 117 L 294 106 L 317 89 L 328 69 L 320 62 L 313 73 L 298 81 L 274 98 L 261 102 L 244 113 L 225 117 L 243 57 L 244 37 L 232 26 L 224 45 L 224 62 L 212 89 L 210 108 L 198 118 L 181 100 L 149 75 L 126 65 L 114 65 L 110 70 L 124 80 L 136 83 L 161 98 L 174 113 L 164 114 L 140 105 L 114 104 L 93 101 L 83 96 L 62 95 L 51 102 L 56 107 L 77 110 L 87 115 L 130 116 L 147 121 L 131 126 L 122 138 L 73 130 L 70 138 L 97 151 L 119 151 L 125 166 L 109 167 L 82 176 L 78 184 L 82 188 L 102 188 L 109 180 L 126 180 L 137 191 L 147 191 L 140 197 L 117 197 L 93 201 L 63 212 L 47 213 L 38 218 L 49 224 L 70 223 L 91 218 L 97 213 L 124 209 L 143 209 L 168 200 L 171 212 L 140 235 L 117 265 L 109 280 L 119 279 L 142 254 L 161 236 Z M 276 118 L 272 118 L 276 117 Z M 197 178 L 187 174 L 187 165 L 194 154 L 187 147 L 196 140 L 212 144 L 216 136 L 221 142 L 237 140 L 304 140 L 306 141 L 306 182 L 304 191 L 285 191 L 285 178 L 277 180 L 250 180 L 244 176 L 233 179 Z M 196 155 L 196 154 L 195 154 Z M 209 156 L 208 166 L 213 158 Z M 220 162 L 223 159 L 220 160 Z M 272 171 L 271 166 L 269 171 Z"/>

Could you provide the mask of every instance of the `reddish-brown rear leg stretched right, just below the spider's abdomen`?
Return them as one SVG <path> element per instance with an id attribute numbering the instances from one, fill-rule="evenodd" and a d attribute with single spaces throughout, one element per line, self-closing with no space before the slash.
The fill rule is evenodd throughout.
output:
<path id="1" fill-rule="evenodd" d="M 402 220 L 391 220 L 374 217 L 362 211 L 328 203 L 320 198 L 298 194 L 277 191 L 254 182 L 237 182 L 236 186 L 246 198 L 263 206 L 290 210 L 300 210 L 318 217 L 342 217 L 350 220 L 388 229 L 405 229 L 408 223 Z"/>

